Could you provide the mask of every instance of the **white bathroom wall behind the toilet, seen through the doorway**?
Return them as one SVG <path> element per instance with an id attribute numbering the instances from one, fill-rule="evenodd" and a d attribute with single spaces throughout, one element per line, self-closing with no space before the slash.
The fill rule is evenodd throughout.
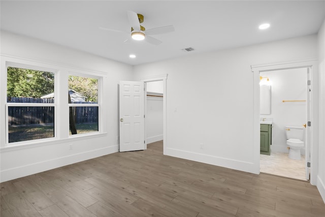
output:
<path id="1" fill-rule="evenodd" d="M 307 69 L 288 69 L 260 73 L 271 82 L 271 114 L 261 117 L 272 117 L 272 151 L 288 152 L 285 126 L 302 127 L 307 123 L 306 102 L 282 102 L 282 100 L 306 100 Z M 305 149 L 301 150 L 305 154 Z"/>

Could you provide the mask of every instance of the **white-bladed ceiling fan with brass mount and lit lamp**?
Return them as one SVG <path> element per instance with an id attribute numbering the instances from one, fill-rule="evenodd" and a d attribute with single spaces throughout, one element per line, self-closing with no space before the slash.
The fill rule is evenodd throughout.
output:
<path id="1" fill-rule="evenodd" d="M 171 33 L 175 31 L 173 25 L 161 26 L 156 28 L 147 29 L 140 25 L 143 22 L 144 16 L 142 14 L 137 14 L 133 11 L 127 11 L 128 22 L 131 25 L 131 38 L 137 41 L 146 40 L 150 44 L 159 45 L 161 41 L 151 37 L 151 35 Z M 112 32 L 125 33 L 120 30 L 110 29 L 105 27 L 100 27 L 100 29 L 109 30 Z M 124 42 L 126 42 L 126 39 Z"/>

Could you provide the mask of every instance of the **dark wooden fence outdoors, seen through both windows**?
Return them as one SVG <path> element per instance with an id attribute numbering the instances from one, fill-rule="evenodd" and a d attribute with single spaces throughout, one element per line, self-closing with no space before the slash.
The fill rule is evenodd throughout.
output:
<path id="1" fill-rule="evenodd" d="M 54 103 L 54 99 L 8 97 L 8 103 Z M 73 102 L 73 104 L 95 104 Z M 98 106 L 72 107 L 75 123 L 98 122 Z M 8 106 L 8 124 L 32 125 L 54 123 L 54 106 Z"/>

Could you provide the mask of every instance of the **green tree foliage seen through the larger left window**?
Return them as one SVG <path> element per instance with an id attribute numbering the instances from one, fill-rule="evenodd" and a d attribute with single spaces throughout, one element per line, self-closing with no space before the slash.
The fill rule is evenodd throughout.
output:
<path id="1" fill-rule="evenodd" d="M 54 91 L 54 73 L 8 67 L 7 96 L 40 98 Z"/>

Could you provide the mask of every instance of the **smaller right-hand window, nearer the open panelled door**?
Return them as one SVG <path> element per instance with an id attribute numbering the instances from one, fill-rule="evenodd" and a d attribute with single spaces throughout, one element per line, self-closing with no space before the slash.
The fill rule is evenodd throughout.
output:
<path id="1" fill-rule="evenodd" d="M 99 131 L 98 78 L 70 75 L 69 134 Z"/>

